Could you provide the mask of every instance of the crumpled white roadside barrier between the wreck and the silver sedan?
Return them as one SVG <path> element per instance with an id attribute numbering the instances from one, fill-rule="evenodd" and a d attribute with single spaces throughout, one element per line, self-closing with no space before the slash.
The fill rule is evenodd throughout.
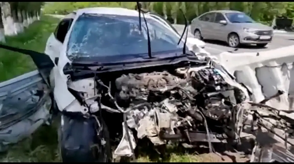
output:
<path id="1" fill-rule="evenodd" d="M 238 52 L 238 51 L 237 51 Z M 274 50 L 245 53 L 224 52 L 219 62 L 245 84 L 253 93 L 251 99 L 259 102 L 273 96 L 278 90 L 285 93 L 267 102 L 281 110 L 292 110 L 294 98 L 294 45 Z"/>

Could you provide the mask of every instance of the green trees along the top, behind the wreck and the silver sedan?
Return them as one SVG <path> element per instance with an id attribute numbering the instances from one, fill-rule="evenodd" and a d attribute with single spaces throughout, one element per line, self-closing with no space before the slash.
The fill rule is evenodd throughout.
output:
<path id="1" fill-rule="evenodd" d="M 44 12 L 66 14 L 87 7 L 123 7 L 134 9 L 136 2 L 51 2 L 46 3 Z M 142 7 L 165 16 L 174 23 L 183 24 L 185 13 L 189 21 L 211 10 L 238 10 L 250 15 L 254 20 L 271 23 L 275 16 L 294 17 L 294 2 L 142 2 Z"/>

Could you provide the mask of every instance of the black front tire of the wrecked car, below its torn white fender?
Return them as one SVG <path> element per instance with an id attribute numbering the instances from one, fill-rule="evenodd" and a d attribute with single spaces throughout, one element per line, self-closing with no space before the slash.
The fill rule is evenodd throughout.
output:
<path id="1" fill-rule="evenodd" d="M 111 162 L 112 153 L 109 141 L 109 132 L 105 122 L 101 119 L 104 139 L 98 139 L 96 134 L 96 120 L 71 119 L 63 117 L 63 126 L 59 127 L 58 140 L 62 162 Z M 102 137 L 102 136 L 101 136 Z M 100 146 L 96 149 L 96 146 Z M 103 149 L 101 149 L 103 148 Z M 103 151 L 103 153 L 98 152 Z M 95 154 L 95 155 L 94 155 Z"/>

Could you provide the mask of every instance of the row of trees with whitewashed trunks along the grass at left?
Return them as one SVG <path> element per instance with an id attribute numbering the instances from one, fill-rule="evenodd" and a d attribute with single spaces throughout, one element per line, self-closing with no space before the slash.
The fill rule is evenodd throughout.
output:
<path id="1" fill-rule="evenodd" d="M 44 2 L 0 2 L 0 42 L 14 36 L 39 19 Z"/>

